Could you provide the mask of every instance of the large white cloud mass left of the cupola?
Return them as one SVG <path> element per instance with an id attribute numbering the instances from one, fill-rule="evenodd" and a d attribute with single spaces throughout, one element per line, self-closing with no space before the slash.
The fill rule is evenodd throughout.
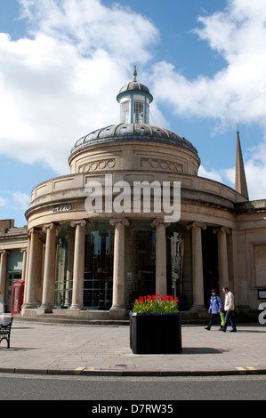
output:
<path id="1" fill-rule="evenodd" d="M 74 143 L 119 122 L 117 93 L 157 28 L 99 0 L 19 1 L 28 37 L 0 34 L 0 152 L 68 173 Z"/>

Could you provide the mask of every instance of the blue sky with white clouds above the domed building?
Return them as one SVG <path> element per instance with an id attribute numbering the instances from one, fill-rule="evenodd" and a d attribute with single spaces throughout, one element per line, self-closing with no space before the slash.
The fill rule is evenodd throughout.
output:
<path id="1" fill-rule="evenodd" d="M 249 196 L 266 198 L 265 22 L 265 0 L 0 0 L 0 219 L 26 224 L 36 184 L 119 122 L 133 65 L 154 96 L 150 123 L 232 188 L 238 123 Z"/>

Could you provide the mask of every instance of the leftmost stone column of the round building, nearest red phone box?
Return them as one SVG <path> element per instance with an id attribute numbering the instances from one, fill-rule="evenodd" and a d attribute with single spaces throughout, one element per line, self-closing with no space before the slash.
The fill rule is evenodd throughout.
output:
<path id="1" fill-rule="evenodd" d="M 24 309 L 36 309 L 36 283 L 40 282 L 42 272 L 42 229 L 30 229 L 29 235 L 29 254 L 28 254 L 28 277 L 26 277 L 25 297 L 22 308 L 22 315 Z"/>

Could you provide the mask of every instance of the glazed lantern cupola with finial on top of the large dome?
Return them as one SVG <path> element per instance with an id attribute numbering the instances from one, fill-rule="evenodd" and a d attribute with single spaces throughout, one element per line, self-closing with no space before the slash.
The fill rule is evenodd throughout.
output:
<path id="1" fill-rule="evenodd" d="M 133 81 L 125 84 L 117 95 L 121 124 L 149 125 L 149 104 L 152 100 L 149 88 L 137 81 L 137 71 L 134 66 Z"/>

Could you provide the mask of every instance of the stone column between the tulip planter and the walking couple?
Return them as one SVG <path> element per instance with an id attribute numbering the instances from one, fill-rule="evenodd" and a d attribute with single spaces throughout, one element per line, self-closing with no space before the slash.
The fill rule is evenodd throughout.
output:
<path id="1" fill-rule="evenodd" d="M 206 310 L 201 241 L 201 229 L 206 229 L 206 224 L 193 222 L 187 229 L 191 229 L 192 233 L 193 306 L 190 310 Z"/>

